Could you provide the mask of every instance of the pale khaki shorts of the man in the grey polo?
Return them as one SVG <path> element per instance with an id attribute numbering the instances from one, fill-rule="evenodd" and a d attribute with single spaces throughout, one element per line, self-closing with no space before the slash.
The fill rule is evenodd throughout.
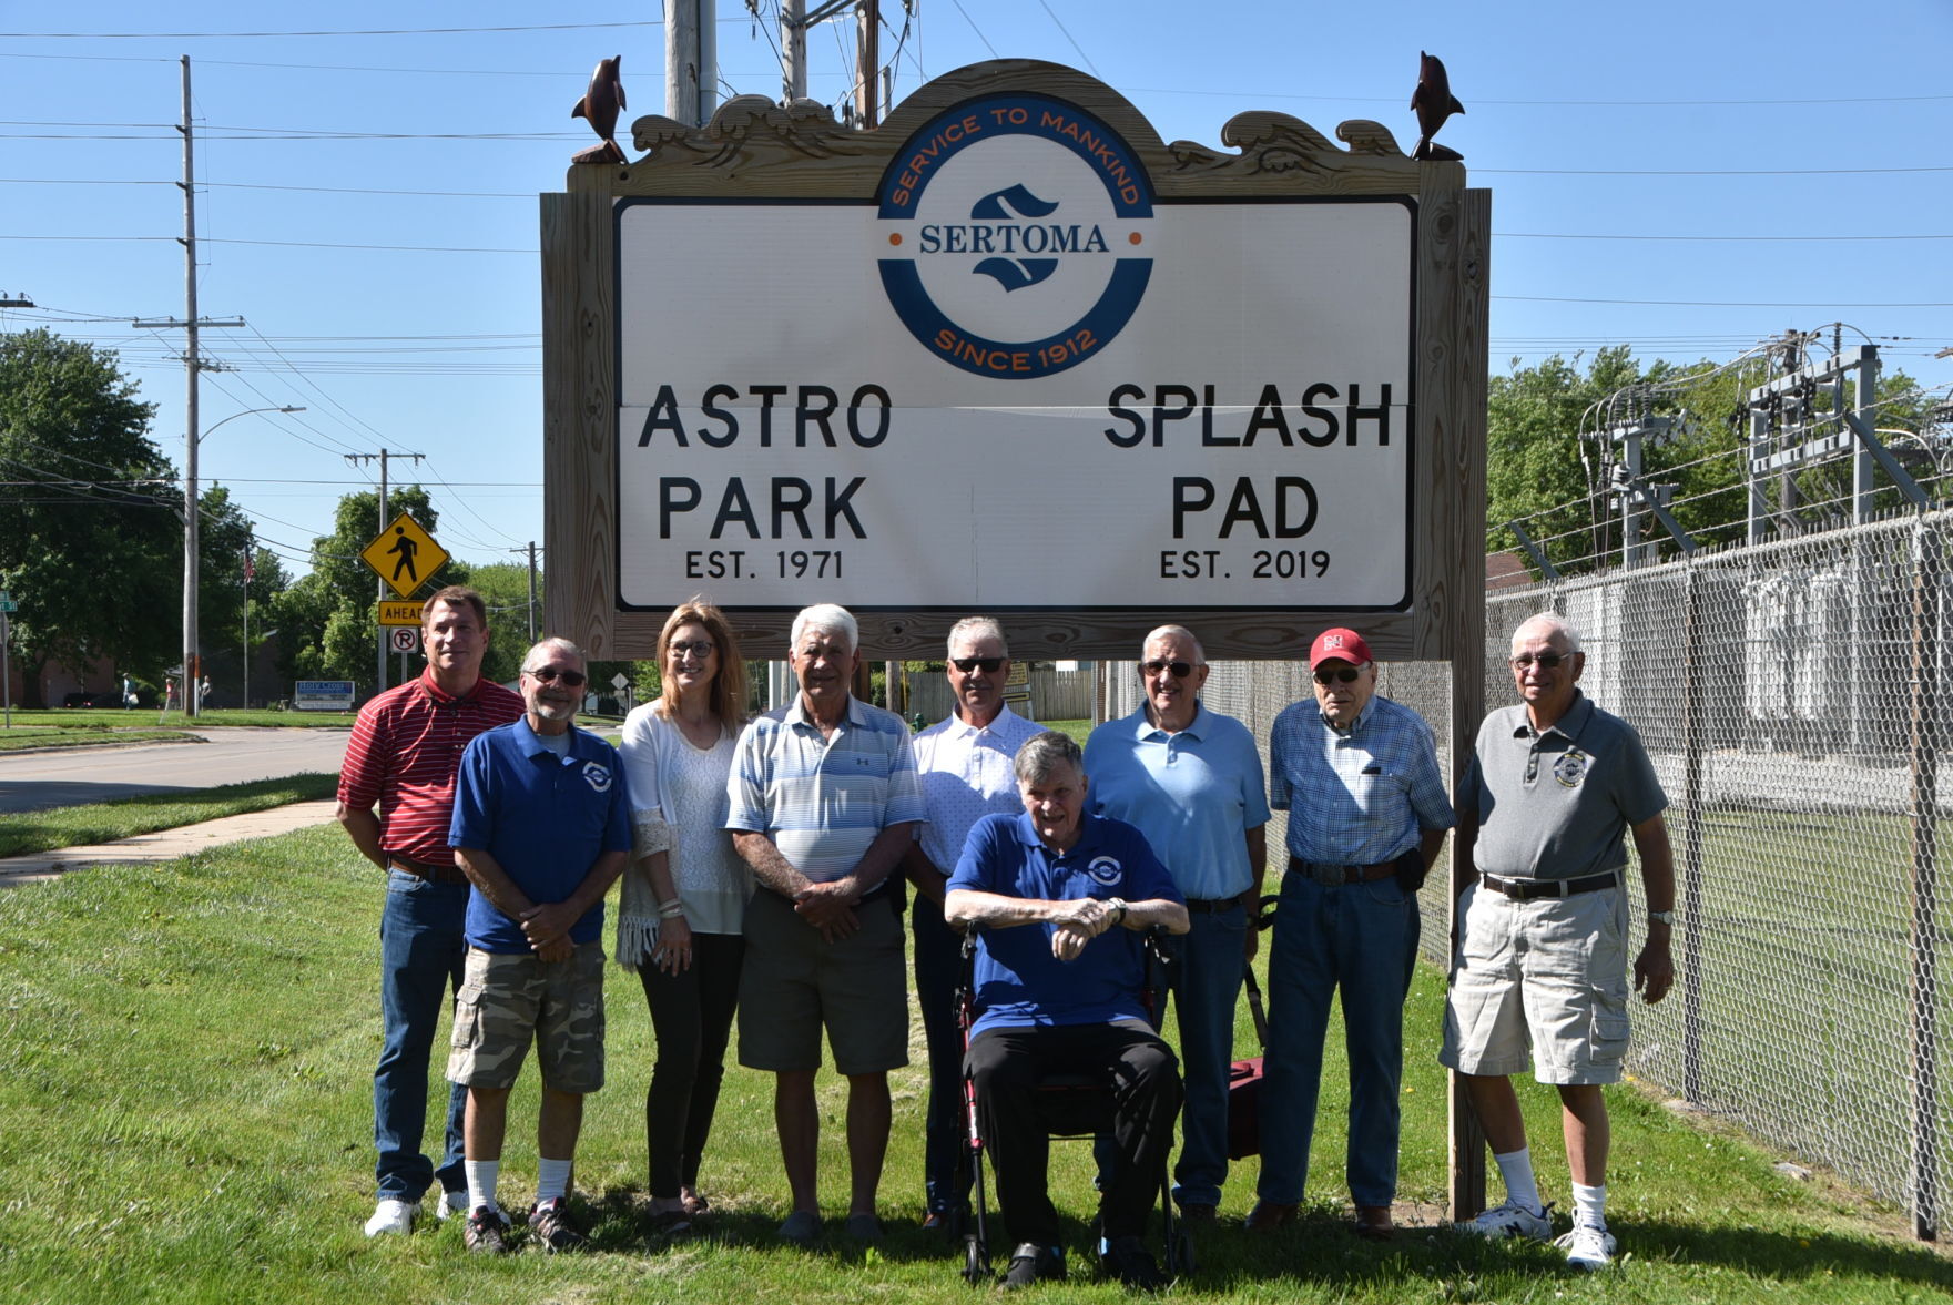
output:
<path id="1" fill-rule="evenodd" d="M 1439 1063 L 1539 1082 L 1621 1082 L 1627 1055 L 1627 889 L 1516 903 L 1484 885 L 1459 899 Z"/>

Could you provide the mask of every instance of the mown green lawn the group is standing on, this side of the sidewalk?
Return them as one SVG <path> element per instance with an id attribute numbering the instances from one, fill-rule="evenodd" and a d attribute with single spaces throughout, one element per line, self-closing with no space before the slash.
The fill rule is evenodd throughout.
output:
<path id="1" fill-rule="evenodd" d="M 769 1080 L 727 1074 L 703 1188 L 705 1237 L 668 1242 L 641 1217 L 643 1088 L 652 1045 L 643 996 L 611 971 L 609 1086 L 578 1155 L 586 1256 L 477 1260 L 453 1225 L 369 1242 L 371 1069 L 379 1051 L 375 928 L 381 881 L 336 828 L 152 867 L 72 873 L 0 893 L 0 1284 L 20 1303 L 94 1301 L 961 1301 L 957 1260 L 914 1227 L 924 1073 L 893 1076 L 883 1182 L 891 1237 L 789 1250 Z M 1443 979 L 1420 969 L 1404 1094 L 1402 1198 L 1437 1217 L 1445 1188 L 1443 1076 L 1434 1051 Z M 1242 1012 L 1246 1016 L 1246 1010 Z M 1252 1033 L 1242 1020 L 1240 1045 Z M 1633 1088 L 1613 1092 L 1609 1215 L 1627 1260 L 1586 1280 L 1549 1248 L 1443 1231 L 1359 1242 L 1342 1231 L 1346 1100 L 1332 1037 L 1310 1217 L 1267 1244 L 1238 1227 L 1256 1162 L 1236 1166 L 1223 1227 L 1172 1295 L 1240 1301 L 1908 1301 L 1945 1299 L 1953 1266 L 1896 1235 L 1892 1211 L 1820 1174 L 1799 1184 L 1728 1129 L 1701 1129 Z M 820 1084 L 822 1196 L 846 1201 L 844 1092 Z M 1557 1106 L 1523 1102 L 1543 1190 L 1566 1198 Z M 535 1071 L 512 1102 L 502 1194 L 535 1180 Z M 1086 1215 L 1090 1155 L 1053 1149 L 1060 1209 Z M 1496 1180 L 1494 1180 L 1496 1188 Z M 1496 1198 L 1496 1194 L 1494 1194 Z M 996 1242 L 1002 1229 L 994 1225 Z M 1090 1280 L 1084 1223 L 1072 1282 L 1043 1301 L 1119 1301 Z M 1002 1250 L 1002 1246 L 1000 1246 Z M 982 1293 L 988 1299 L 988 1291 Z"/>

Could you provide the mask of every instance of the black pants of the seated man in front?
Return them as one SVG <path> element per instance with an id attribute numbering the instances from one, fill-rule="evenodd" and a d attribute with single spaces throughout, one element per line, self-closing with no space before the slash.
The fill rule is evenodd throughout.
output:
<path id="1" fill-rule="evenodd" d="M 1105 1237 L 1137 1237 L 1160 1188 L 1180 1114 L 1180 1065 L 1137 1020 L 984 1030 L 963 1071 L 976 1080 L 976 1117 L 996 1166 L 996 1198 L 1012 1242 L 1059 1242 L 1045 1190 L 1051 1143 L 1039 1110 L 1045 1074 L 1103 1076 L 1113 1094 L 1113 1162 L 1100 1196 Z"/>

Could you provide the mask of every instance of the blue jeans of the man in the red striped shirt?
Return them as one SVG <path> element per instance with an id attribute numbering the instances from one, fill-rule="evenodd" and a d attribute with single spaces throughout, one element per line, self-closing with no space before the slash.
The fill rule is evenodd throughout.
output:
<path id="1" fill-rule="evenodd" d="M 439 1178 L 443 1190 L 463 1190 L 461 1112 L 469 1090 L 447 1092 L 447 1147 L 441 1166 L 420 1153 L 428 1123 L 428 1057 L 449 992 L 461 989 L 467 957 L 463 922 L 469 889 L 428 883 L 398 869 L 387 871 L 387 908 L 379 920 L 381 1053 L 373 1071 L 373 1147 L 379 1160 L 379 1200 L 418 1201 Z"/>

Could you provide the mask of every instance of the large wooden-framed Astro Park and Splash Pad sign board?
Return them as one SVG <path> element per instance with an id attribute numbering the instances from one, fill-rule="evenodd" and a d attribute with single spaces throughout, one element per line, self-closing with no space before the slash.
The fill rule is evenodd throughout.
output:
<path id="1" fill-rule="evenodd" d="M 877 131 L 641 117 L 543 195 L 551 629 L 650 656 L 703 592 L 758 656 L 809 602 L 873 656 L 978 611 L 1019 656 L 1475 645 L 1488 197 L 1336 135 L 1166 145 L 1031 61 Z"/>

